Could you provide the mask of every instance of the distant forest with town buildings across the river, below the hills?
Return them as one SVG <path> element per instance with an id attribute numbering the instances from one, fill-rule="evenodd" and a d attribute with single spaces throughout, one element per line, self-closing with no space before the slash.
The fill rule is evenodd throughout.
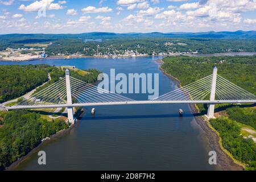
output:
<path id="1" fill-rule="evenodd" d="M 88 39 L 91 39 L 88 41 Z M 94 41 L 100 39 L 101 41 Z M 27 44 L 50 44 L 46 48 L 47 55 L 72 55 L 79 53 L 85 56 L 97 54 L 97 46 L 104 55 L 110 53 L 123 54 L 125 50 L 133 50 L 138 53 L 161 52 L 196 52 L 220 53 L 220 52 L 255 52 L 256 39 L 216 39 L 207 37 L 190 37 L 159 34 L 148 35 L 2 35 L 0 36 L 0 51 L 6 48 L 30 48 Z M 165 44 L 169 43 L 169 44 Z M 179 44 L 181 43 L 181 44 Z M 35 48 L 40 48 L 35 47 Z"/>

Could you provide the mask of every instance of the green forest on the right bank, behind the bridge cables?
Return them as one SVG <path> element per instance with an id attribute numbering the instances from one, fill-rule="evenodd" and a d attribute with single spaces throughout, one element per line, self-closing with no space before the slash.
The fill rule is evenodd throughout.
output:
<path id="1" fill-rule="evenodd" d="M 256 56 L 166 57 L 162 68 L 178 78 L 182 85 L 212 74 L 214 65 L 218 75 L 241 88 L 256 94 Z"/>

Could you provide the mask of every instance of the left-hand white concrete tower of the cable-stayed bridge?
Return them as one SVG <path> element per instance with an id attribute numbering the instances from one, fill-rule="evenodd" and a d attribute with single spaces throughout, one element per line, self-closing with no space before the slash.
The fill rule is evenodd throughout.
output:
<path id="1" fill-rule="evenodd" d="M 68 69 L 66 69 L 65 75 L 66 75 L 66 88 L 67 88 L 67 104 L 72 105 L 71 84 L 70 84 Z M 73 107 L 68 107 L 68 122 L 71 123 L 72 125 L 75 124 Z"/>

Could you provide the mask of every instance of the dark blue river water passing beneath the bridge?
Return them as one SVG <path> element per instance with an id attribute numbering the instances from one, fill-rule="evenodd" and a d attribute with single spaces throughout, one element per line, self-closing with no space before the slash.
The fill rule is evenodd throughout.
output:
<path id="1" fill-rule="evenodd" d="M 159 73 L 159 92 L 177 88 L 159 71 L 161 57 L 129 59 L 57 59 L 0 64 L 75 65 L 109 73 Z M 127 94 L 147 100 L 147 94 Z M 214 170 L 208 163 L 209 145 L 187 104 L 97 106 L 68 134 L 43 143 L 47 165 L 39 166 L 37 152 L 16 170 Z M 184 116 L 179 117 L 179 109 Z"/>

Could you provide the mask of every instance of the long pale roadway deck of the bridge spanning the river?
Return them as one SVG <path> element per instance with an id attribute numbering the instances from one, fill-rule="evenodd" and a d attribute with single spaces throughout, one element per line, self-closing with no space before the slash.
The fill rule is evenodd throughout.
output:
<path id="1" fill-rule="evenodd" d="M 32 106 L 10 106 L 6 110 L 14 109 L 43 109 L 57 107 L 83 107 L 83 106 L 106 106 L 106 105 L 137 105 L 137 104 L 254 104 L 256 100 L 251 101 L 127 101 L 127 102 L 100 102 L 100 103 L 84 103 L 84 104 L 60 104 L 60 105 L 32 105 Z"/>

